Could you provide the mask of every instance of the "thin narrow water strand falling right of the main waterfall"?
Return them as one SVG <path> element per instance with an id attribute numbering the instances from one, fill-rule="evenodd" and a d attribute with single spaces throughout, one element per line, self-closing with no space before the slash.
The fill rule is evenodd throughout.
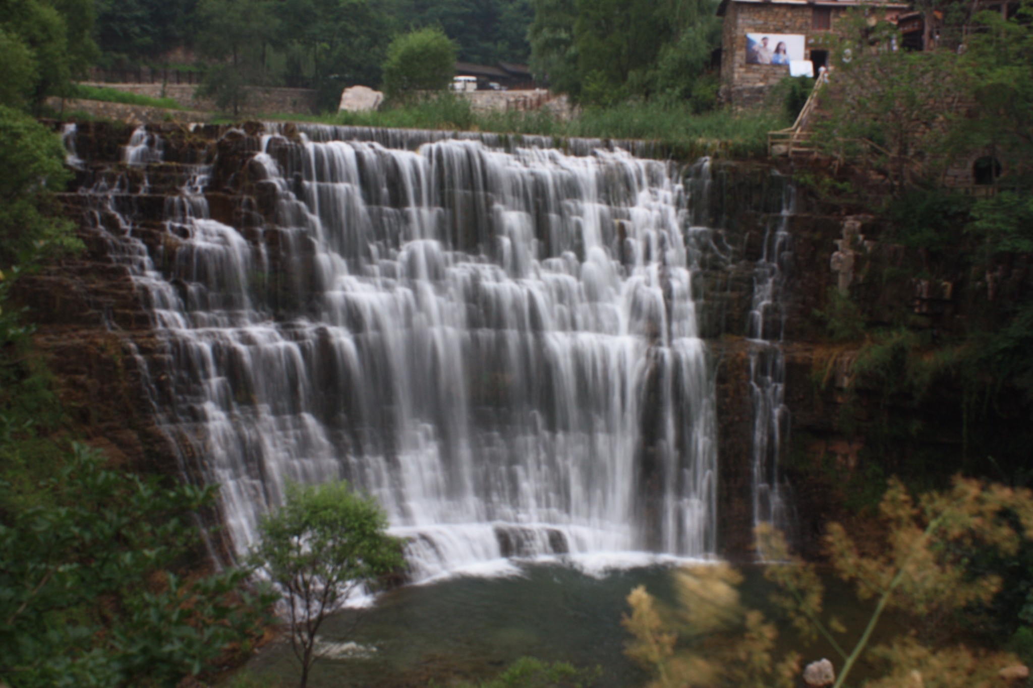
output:
<path id="1" fill-rule="evenodd" d="M 783 191 L 782 212 L 769 220 L 763 253 L 754 266 L 749 314 L 750 396 L 753 403 L 753 522 L 768 523 L 787 535 L 793 527 L 789 488 L 779 470 L 779 457 L 789 428 L 785 405 L 786 282 L 792 258 L 789 218 L 793 188 Z M 764 558 L 763 552 L 760 553 Z"/>

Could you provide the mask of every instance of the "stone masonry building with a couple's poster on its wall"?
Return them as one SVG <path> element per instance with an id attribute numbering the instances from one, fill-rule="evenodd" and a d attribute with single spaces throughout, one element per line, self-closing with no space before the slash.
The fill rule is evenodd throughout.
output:
<path id="1" fill-rule="evenodd" d="M 724 18 L 721 100 L 737 109 L 762 104 L 771 88 L 789 74 L 790 58 L 811 61 L 817 75 L 828 54 L 815 39 L 835 32 L 847 10 L 862 5 L 877 7 L 879 19 L 889 21 L 909 7 L 855 0 L 722 0 L 717 10 Z M 786 45 L 787 52 L 776 53 Z"/>

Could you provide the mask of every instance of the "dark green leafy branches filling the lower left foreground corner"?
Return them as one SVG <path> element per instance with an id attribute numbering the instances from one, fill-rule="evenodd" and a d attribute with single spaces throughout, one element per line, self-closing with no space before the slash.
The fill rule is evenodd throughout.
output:
<path id="1" fill-rule="evenodd" d="M 10 435 L 0 437 L 6 453 Z M 35 686 L 176 686 L 248 642 L 271 598 L 245 569 L 181 579 L 196 564 L 199 510 L 215 488 L 105 469 L 75 445 L 15 507 L 0 481 L 0 678 Z"/>

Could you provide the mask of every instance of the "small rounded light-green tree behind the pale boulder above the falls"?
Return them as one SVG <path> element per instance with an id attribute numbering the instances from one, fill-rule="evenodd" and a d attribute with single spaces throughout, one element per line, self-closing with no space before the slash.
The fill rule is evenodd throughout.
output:
<path id="1" fill-rule="evenodd" d="M 390 98 L 405 98 L 414 91 L 440 91 L 456 69 L 456 45 L 437 28 L 419 29 L 399 36 L 387 46 L 383 88 Z"/>

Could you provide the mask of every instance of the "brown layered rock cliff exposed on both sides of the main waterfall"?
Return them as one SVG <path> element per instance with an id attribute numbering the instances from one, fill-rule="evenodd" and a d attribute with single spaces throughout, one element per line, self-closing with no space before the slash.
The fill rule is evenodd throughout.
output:
<path id="1" fill-rule="evenodd" d="M 299 291 L 288 286 L 309 281 L 317 266 L 308 260 L 288 261 L 283 250 L 291 237 L 275 227 L 279 190 L 252 157 L 262 134 L 260 125 L 161 125 L 150 130 L 160 134 L 163 151 L 161 162 L 147 165 L 144 174 L 140 165 L 126 161 L 132 129 L 77 125 L 75 155 L 85 161 L 77 187 L 113 190 L 114 205 L 98 203 L 96 195 L 64 194 L 87 251 L 24 279 L 17 297 L 32 308 L 38 350 L 56 374 L 66 408 L 94 445 L 143 470 L 199 479 L 191 443 L 177 441 L 167 428 L 159 428 L 158 409 L 176 399 L 171 358 L 167 342 L 153 329 L 153 304 L 146 302 L 147 295 L 130 276 L 130 263 L 139 256 L 127 255 L 125 247 L 113 242 L 113 236 L 126 231 L 120 218 L 133 218 L 133 235 L 152 256 L 170 259 L 177 239 L 165 225 L 168 199 L 190 184 L 191 165 L 206 163 L 212 166 L 204 189 L 211 217 L 238 228 L 249 241 L 262 242 L 268 256 L 263 285 L 273 293 L 272 302 L 279 298 L 284 307 L 293 306 L 288 301 Z M 289 126 L 282 133 L 295 135 Z M 146 160 L 147 138 L 136 145 L 144 146 L 138 154 Z M 701 331 L 717 370 L 721 549 L 728 556 L 745 557 L 752 542 L 758 440 L 757 400 L 751 388 L 757 343 L 751 338 L 751 314 L 758 312 L 758 267 L 771 262 L 773 244 L 765 237 L 773 223 L 786 216 L 784 230 L 791 242 L 780 248 L 777 257 L 781 315 L 776 319 L 782 331 L 778 337 L 769 333 L 766 339 L 783 359 L 779 398 L 788 414 L 776 419 L 784 423 L 785 436 L 771 451 L 779 455 L 789 478 L 792 495 L 787 503 L 795 511 L 799 539 L 814 553 L 820 525 L 843 516 L 851 490 L 866 489 L 856 477 L 877 482 L 902 461 L 929 457 L 940 449 L 957 454 L 962 443 L 960 392 L 949 382 L 921 406 L 903 395 L 887 398 L 883 390 L 866 388 L 851 379 L 865 334 L 829 341 L 826 323 L 815 314 L 829 310 L 832 294 L 844 284 L 863 308 L 911 309 L 915 326 L 931 333 L 959 327 L 966 313 L 979 304 L 960 302 L 959 289 L 931 286 L 929 280 L 910 275 L 878 284 L 876 276 L 884 271 L 873 266 L 904 270 L 909 264 L 906 252 L 880 243 L 881 227 L 871 219 L 849 216 L 851 208 L 836 203 L 817 203 L 801 194 L 786 215 L 786 177 L 770 166 L 715 164 L 706 186 L 698 186 L 698 171 L 695 174 L 692 224 L 718 228 L 706 230 L 707 240 L 700 242 L 711 248 L 699 258 L 705 271 L 694 287 Z M 760 310 L 761 319 L 773 317 Z M 490 395 L 491 390 L 482 393 Z M 883 435 L 886 419 L 895 416 L 906 417 L 915 431 L 896 456 L 873 455 L 873 446 L 893 441 Z M 1002 418 L 1001 428 L 1028 433 L 1022 427 L 1028 424 L 1028 408 L 1021 402 Z"/>

